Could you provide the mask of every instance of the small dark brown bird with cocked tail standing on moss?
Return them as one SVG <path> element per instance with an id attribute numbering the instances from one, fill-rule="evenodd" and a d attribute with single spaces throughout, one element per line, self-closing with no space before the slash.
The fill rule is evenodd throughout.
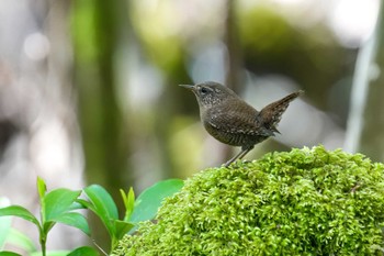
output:
<path id="1" fill-rule="evenodd" d="M 256 144 L 280 133 L 276 126 L 282 114 L 290 102 L 303 93 L 293 92 L 257 111 L 218 82 L 180 86 L 192 90 L 196 96 L 201 121 L 213 137 L 231 146 L 241 146 L 241 152 L 225 163 L 226 167 L 236 159 L 241 159 Z"/>

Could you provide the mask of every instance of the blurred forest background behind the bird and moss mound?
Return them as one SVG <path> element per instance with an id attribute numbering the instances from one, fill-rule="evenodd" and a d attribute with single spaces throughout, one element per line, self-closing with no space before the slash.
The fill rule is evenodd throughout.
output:
<path id="1" fill-rule="evenodd" d="M 36 175 L 52 188 L 99 183 L 117 199 L 118 188 L 139 193 L 221 165 L 234 149 L 207 135 L 194 96 L 178 87 L 205 80 L 257 109 L 305 90 L 284 114 L 282 135 L 248 159 L 321 143 L 383 160 L 379 9 L 379 0 L 2 0 L 0 194 L 36 211 Z M 377 64 L 376 86 L 360 93 L 372 70 L 353 78 L 355 63 L 372 37 L 379 51 L 365 67 Z M 84 243 L 70 229 L 53 236 L 48 247 Z"/>

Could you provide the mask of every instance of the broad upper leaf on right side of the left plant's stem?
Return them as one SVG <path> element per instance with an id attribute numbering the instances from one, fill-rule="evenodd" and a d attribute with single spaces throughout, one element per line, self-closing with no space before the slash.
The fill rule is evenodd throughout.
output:
<path id="1" fill-rule="evenodd" d="M 55 189 L 44 197 L 44 215 L 46 222 L 60 216 L 64 212 L 72 210 L 75 200 L 80 196 L 81 191 L 72 191 L 69 189 Z"/>

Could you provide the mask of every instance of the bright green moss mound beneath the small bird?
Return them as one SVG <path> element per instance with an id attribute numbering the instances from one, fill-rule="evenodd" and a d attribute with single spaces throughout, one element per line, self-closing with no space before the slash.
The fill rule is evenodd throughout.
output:
<path id="1" fill-rule="evenodd" d="M 114 255 L 379 255 L 383 170 L 323 146 L 206 169 Z"/>

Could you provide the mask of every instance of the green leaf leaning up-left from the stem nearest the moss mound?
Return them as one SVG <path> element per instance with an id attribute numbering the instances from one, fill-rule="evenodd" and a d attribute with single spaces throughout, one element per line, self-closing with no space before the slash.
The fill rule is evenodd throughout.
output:
<path id="1" fill-rule="evenodd" d="M 118 220 L 118 212 L 111 194 L 99 185 L 91 185 L 84 189 L 84 193 L 92 203 L 93 211 L 103 222 L 108 232 L 112 236 L 115 233 L 114 225 L 111 220 Z"/>

